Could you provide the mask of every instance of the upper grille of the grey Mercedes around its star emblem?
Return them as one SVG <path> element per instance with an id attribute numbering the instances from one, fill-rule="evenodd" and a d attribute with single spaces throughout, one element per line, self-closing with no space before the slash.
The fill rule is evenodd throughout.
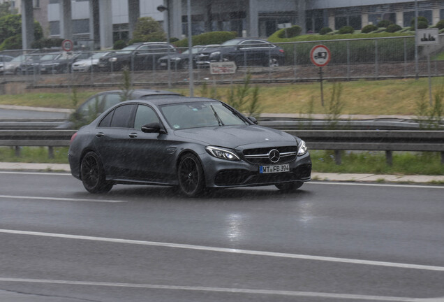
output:
<path id="1" fill-rule="evenodd" d="M 269 158 L 269 152 L 279 151 L 279 161 L 273 162 Z M 246 161 L 251 164 L 286 164 L 297 157 L 297 146 L 270 147 L 244 150 Z"/>

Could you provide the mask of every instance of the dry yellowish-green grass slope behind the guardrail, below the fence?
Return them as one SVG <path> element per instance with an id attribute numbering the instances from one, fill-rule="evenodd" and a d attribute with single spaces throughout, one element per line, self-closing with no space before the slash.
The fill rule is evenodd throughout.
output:
<path id="1" fill-rule="evenodd" d="M 428 81 L 420 80 L 358 80 L 342 82 L 341 100 L 345 104 L 342 113 L 354 115 L 415 115 L 416 102 L 421 92 L 428 91 Z M 437 91 L 444 85 L 444 78 L 433 78 L 432 89 Z M 252 87 L 254 86 L 251 85 Z M 324 97 L 330 98 L 333 83 L 325 82 Z M 164 89 L 164 88 L 162 88 Z M 107 89 L 102 89 L 102 91 Z M 188 87 L 171 89 L 175 92 L 188 94 Z M 229 85 L 217 87 L 221 99 L 226 101 Z M 97 90 L 77 92 L 78 105 L 83 103 Z M 200 96 L 200 86 L 195 87 L 195 95 Z M 297 83 L 281 85 L 260 85 L 259 90 L 262 113 L 309 113 L 309 102 L 314 99 L 312 113 L 326 113 L 320 104 L 319 83 Z M 48 108 L 73 108 L 71 94 L 31 92 L 28 94 L 0 95 L 1 105 L 21 105 Z"/>

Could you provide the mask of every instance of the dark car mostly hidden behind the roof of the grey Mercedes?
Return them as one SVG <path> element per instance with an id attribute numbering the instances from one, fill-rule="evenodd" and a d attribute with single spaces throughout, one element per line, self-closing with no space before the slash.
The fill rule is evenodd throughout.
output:
<path id="1" fill-rule="evenodd" d="M 91 122 L 97 115 L 100 115 L 103 111 L 121 101 L 126 101 L 127 99 L 147 99 L 151 96 L 182 96 L 182 94 L 154 89 L 135 89 L 131 90 L 129 95 L 126 95 L 126 92 L 123 90 L 99 92 L 84 101 L 84 103 L 71 114 L 69 119 L 57 128 L 76 129 L 79 125 Z"/>

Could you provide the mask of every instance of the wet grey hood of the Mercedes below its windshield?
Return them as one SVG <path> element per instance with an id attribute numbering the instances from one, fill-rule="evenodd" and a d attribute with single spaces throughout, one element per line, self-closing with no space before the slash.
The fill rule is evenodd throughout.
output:
<path id="1" fill-rule="evenodd" d="M 278 141 L 281 145 L 294 145 L 297 142 L 295 136 L 291 134 L 256 125 L 182 129 L 175 130 L 175 136 L 205 143 L 205 145 L 233 149 L 243 145 L 273 144 Z"/>

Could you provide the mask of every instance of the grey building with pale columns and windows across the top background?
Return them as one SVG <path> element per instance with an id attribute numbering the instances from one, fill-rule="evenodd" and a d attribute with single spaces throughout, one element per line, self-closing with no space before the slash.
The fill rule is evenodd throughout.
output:
<path id="1" fill-rule="evenodd" d="M 96 48 L 110 48 L 114 41 L 131 39 L 138 17 L 149 16 L 163 23 L 170 37 L 180 39 L 188 32 L 186 0 L 32 1 L 34 6 L 38 1 L 41 12 L 47 6 L 49 36 L 71 38 Z M 163 13 L 157 10 L 161 4 L 168 8 Z M 408 27 L 415 8 L 429 24 L 444 19 L 444 0 L 191 0 L 191 22 L 193 35 L 236 31 L 238 36 L 265 38 L 295 24 L 306 33 L 345 25 L 362 29 L 380 20 Z"/>

